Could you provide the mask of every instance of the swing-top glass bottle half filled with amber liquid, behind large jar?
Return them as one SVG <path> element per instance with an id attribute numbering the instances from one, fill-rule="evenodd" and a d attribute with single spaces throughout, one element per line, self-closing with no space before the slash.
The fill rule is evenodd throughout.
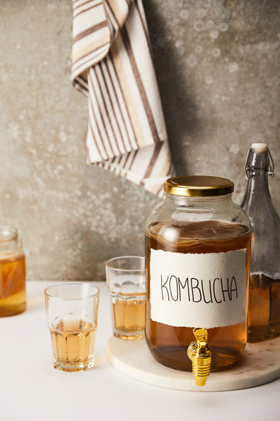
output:
<path id="1" fill-rule="evenodd" d="M 280 218 L 269 194 L 274 163 L 266 143 L 253 143 L 246 160 L 241 203 L 252 225 L 248 342 L 280 335 Z"/>

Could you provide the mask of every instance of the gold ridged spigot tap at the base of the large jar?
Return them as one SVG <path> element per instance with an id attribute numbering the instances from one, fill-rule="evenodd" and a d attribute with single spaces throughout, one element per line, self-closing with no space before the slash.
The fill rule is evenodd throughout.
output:
<path id="1" fill-rule="evenodd" d="M 204 328 L 193 329 L 196 342 L 188 347 L 188 358 L 192 361 L 193 375 L 197 386 L 204 386 L 211 370 L 211 352 L 208 347 L 208 332 Z"/>

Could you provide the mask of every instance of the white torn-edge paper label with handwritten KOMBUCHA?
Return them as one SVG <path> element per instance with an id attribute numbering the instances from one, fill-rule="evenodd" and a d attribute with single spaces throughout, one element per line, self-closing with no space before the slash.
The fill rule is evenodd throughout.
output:
<path id="1" fill-rule="evenodd" d="M 151 319 L 216 328 L 245 321 L 246 248 L 227 253 L 151 249 Z"/>

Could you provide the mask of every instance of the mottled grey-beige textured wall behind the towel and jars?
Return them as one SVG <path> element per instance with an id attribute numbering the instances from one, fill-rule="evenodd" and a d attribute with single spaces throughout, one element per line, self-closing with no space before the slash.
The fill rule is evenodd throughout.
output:
<path id="1" fill-rule="evenodd" d="M 279 0 L 144 0 L 179 175 L 246 187 L 251 142 L 267 142 L 280 211 Z M 29 279 L 104 279 L 144 253 L 158 198 L 85 164 L 87 100 L 70 83 L 71 1 L 0 0 L 0 221 L 18 227 Z"/>

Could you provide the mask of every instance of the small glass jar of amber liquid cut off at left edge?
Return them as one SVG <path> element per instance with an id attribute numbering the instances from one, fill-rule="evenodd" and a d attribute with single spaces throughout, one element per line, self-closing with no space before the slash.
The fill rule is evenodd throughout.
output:
<path id="1" fill-rule="evenodd" d="M 25 253 L 18 231 L 0 226 L 0 316 L 13 316 L 26 309 Z"/>

